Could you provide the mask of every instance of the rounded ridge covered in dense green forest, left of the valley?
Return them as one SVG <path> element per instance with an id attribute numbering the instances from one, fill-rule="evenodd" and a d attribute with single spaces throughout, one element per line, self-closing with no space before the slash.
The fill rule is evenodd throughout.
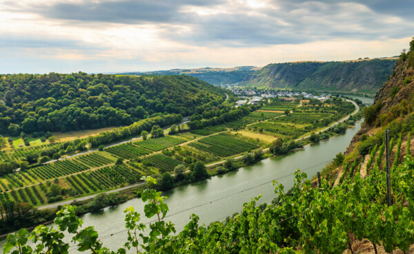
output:
<path id="1" fill-rule="evenodd" d="M 0 134 L 96 129 L 219 105 L 224 90 L 191 76 L 13 74 L 0 76 Z M 199 109 L 197 111 L 197 108 Z"/>

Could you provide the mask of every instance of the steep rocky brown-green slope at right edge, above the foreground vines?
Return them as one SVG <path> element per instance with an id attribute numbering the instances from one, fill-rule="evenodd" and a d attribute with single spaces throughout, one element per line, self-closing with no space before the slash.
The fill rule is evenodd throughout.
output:
<path id="1" fill-rule="evenodd" d="M 360 147 L 368 146 L 367 142 L 371 142 L 371 145 L 382 142 L 384 129 L 389 129 L 394 138 L 400 132 L 413 131 L 414 40 L 410 45 L 411 50 L 401 54 L 390 78 L 375 96 L 374 104 L 364 109 L 365 122 L 346 150 L 347 154 L 356 152 L 357 147 L 362 150 Z"/>

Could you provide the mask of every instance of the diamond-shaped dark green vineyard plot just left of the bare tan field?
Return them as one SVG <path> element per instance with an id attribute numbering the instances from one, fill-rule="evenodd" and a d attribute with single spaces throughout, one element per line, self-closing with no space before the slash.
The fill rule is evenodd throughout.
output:
<path id="1" fill-rule="evenodd" d="M 201 140 L 191 142 L 189 145 L 219 157 L 233 156 L 235 154 L 241 154 L 244 151 L 250 151 L 259 147 L 251 142 L 239 140 L 225 134 L 217 134 L 201 138 Z"/>

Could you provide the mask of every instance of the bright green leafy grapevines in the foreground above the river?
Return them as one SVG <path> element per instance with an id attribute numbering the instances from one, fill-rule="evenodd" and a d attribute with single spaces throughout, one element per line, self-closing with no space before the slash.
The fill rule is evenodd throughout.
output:
<path id="1" fill-rule="evenodd" d="M 353 167 L 357 169 L 358 167 Z M 295 173 L 295 185 L 285 193 L 276 185 L 277 199 L 266 208 L 257 206 L 260 197 L 244 204 L 243 210 L 226 222 L 199 224 L 197 215 L 177 235 L 174 225 L 162 220 L 168 212 L 164 197 L 154 189 L 146 189 L 141 198 L 148 218 L 155 222 L 140 222 L 140 215 L 126 209 L 128 242 L 117 252 L 102 248 L 98 233 L 92 226 L 81 229 L 82 221 L 75 216 L 75 207 L 65 207 L 57 213 L 58 229 L 38 226 L 32 233 L 21 229 L 10 234 L 5 253 L 68 253 L 69 245 L 62 241 L 63 231 L 75 234 L 79 251 L 89 253 L 342 253 L 351 242 L 351 234 L 363 237 L 376 247 L 382 244 L 387 252 L 396 248 L 407 251 L 414 242 L 414 159 L 406 155 L 404 162 L 392 169 L 393 204 L 386 205 L 386 173 L 378 167 L 366 178 L 347 178 L 331 189 L 311 187 L 306 173 Z M 155 179 L 146 178 L 151 187 Z M 36 247 L 27 245 L 32 240 Z"/>

